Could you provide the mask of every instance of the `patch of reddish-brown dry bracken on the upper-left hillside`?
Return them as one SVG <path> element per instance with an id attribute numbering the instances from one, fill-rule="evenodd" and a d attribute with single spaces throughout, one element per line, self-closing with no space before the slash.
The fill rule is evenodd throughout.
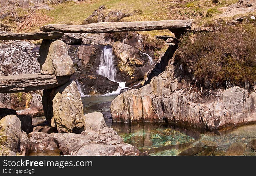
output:
<path id="1" fill-rule="evenodd" d="M 47 16 L 44 13 L 30 13 L 27 15 L 26 19 L 20 23 L 19 27 L 17 28 L 18 32 L 30 32 L 33 28 L 37 26 L 41 26 L 53 18 Z"/>

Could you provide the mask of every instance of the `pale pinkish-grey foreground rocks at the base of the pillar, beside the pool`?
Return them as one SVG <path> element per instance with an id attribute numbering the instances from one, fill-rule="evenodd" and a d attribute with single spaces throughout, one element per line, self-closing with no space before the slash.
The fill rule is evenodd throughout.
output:
<path id="1" fill-rule="evenodd" d="M 81 134 L 34 132 L 24 134 L 21 141 L 23 155 L 41 151 L 63 155 L 139 155 L 138 148 L 124 144 L 113 128 L 106 127 L 101 113 L 85 115 L 86 131 Z M 59 151 L 59 152 L 58 152 Z"/>

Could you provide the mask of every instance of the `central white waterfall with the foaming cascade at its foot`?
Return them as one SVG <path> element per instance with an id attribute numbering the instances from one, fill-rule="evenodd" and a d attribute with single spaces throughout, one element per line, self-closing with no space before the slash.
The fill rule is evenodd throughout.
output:
<path id="1" fill-rule="evenodd" d="M 99 69 L 97 70 L 97 74 L 103 75 L 104 77 L 107 77 L 109 80 L 117 82 L 111 46 L 107 45 L 103 48 L 102 53 L 100 55 L 100 66 L 99 66 Z M 126 88 L 125 82 L 117 82 L 117 83 L 119 84 L 118 89 L 116 91 L 107 93 L 105 95 L 119 94 L 122 89 Z"/>

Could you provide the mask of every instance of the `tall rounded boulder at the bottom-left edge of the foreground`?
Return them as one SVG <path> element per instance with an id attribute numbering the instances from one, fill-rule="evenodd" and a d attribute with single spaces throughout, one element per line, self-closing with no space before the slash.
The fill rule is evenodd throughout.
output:
<path id="1" fill-rule="evenodd" d="M 20 150 L 20 139 L 22 137 L 21 123 L 16 115 L 8 115 L 1 119 L 1 126 L 7 136 L 6 146 L 17 153 Z"/>

